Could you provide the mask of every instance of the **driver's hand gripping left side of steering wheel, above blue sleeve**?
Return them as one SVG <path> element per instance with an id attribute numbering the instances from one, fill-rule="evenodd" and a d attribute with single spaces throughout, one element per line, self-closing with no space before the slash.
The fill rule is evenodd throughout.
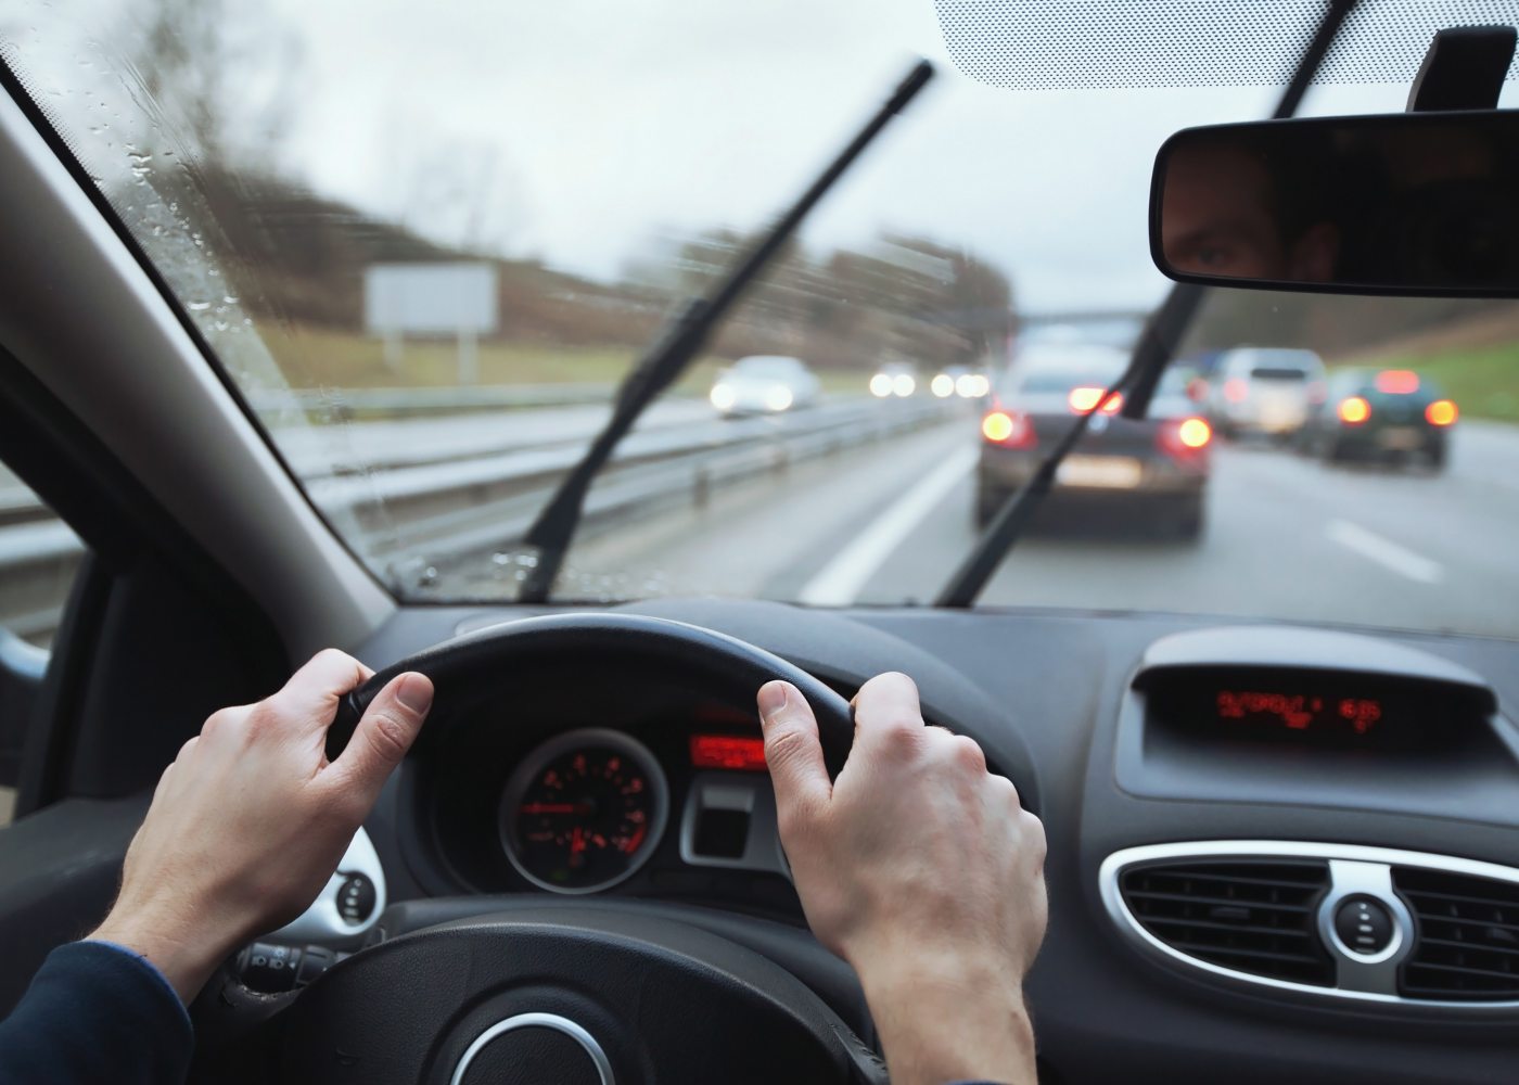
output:
<path id="1" fill-rule="evenodd" d="M 301 915 L 433 704 L 425 676 L 398 676 L 328 763 L 337 701 L 371 673 L 330 649 L 273 696 L 211 716 L 158 781 L 91 938 L 146 956 L 188 1003 L 234 948 Z"/>

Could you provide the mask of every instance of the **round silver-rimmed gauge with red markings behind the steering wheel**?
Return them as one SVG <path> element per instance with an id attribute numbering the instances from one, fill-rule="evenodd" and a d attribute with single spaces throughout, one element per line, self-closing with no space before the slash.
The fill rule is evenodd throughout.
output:
<path id="1" fill-rule="evenodd" d="M 536 886 L 588 894 L 643 866 L 670 793 L 653 754 L 621 731 L 570 731 L 538 746 L 501 795 L 501 843 Z"/>

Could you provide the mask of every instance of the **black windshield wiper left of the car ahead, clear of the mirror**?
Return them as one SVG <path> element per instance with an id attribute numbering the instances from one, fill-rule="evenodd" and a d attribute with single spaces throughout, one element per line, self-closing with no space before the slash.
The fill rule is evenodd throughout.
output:
<path id="1" fill-rule="evenodd" d="M 902 84 L 892 93 L 892 97 L 870 119 L 870 122 L 849 141 L 828 169 L 802 193 L 801 199 L 781 216 L 779 222 L 770 228 L 760 242 L 738 258 L 728 278 L 705 298 L 693 298 L 685 302 L 673 321 L 670 321 L 653 346 L 633 366 L 632 372 L 617 389 L 617 400 L 612 406 L 612 416 L 591 445 L 585 456 L 564 477 L 553 497 L 538 514 L 538 520 L 527 529 L 524 541 L 538 552 L 538 561 L 532 565 L 518 602 L 542 603 L 548 600 L 554 579 L 564 565 L 565 553 L 574 539 L 576 527 L 585 511 L 585 497 L 591 489 L 591 482 L 597 473 L 606 467 L 617 448 L 617 442 L 627 435 L 644 413 L 644 409 L 655 398 L 670 388 L 706 343 L 712 330 L 728 315 L 734 302 L 744 289 L 764 270 L 766 264 L 781 251 L 787 240 L 802 225 L 802 219 L 813 207 L 832 188 L 834 182 L 843 176 L 855 158 L 860 157 L 883 128 L 901 112 L 908 102 L 928 84 L 934 74 L 934 67 L 928 61 L 919 61 L 907 73 Z"/>

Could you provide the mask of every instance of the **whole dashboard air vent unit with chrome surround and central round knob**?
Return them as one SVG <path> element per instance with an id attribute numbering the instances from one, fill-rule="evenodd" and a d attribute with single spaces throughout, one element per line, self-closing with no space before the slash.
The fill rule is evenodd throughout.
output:
<path id="1" fill-rule="evenodd" d="M 1519 1011 L 1519 869 L 1299 840 L 1126 848 L 1103 904 L 1145 956 L 1258 994 Z"/>

